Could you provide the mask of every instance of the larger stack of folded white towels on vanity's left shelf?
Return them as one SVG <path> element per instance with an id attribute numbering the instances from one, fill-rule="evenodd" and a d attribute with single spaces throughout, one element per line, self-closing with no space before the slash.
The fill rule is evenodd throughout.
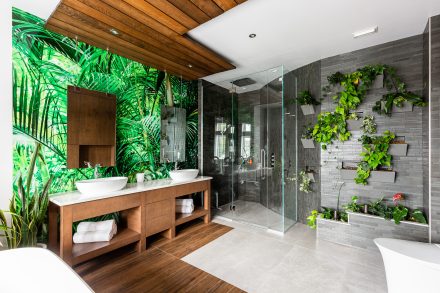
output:
<path id="1" fill-rule="evenodd" d="M 73 235 L 73 243 L 110 241 L 117 230 L 115 220 L 81 222 Z"/>

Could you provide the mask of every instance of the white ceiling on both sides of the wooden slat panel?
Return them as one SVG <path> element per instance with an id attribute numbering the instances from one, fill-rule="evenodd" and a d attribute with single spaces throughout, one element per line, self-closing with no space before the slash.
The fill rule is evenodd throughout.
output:
<path id="1" fill-rule="evenodd" d="M 13 6 L 47 19 L 59 0 L 13 0 Z M 310 62 L 420 34 L 440 0 L 248 0 L 190 31 L 237 69 L 205 79 L 214 83 Z M 374 35 L 352 33 L 379 26 Z M 257 37 L 250 39 L 250 33 Z"/>

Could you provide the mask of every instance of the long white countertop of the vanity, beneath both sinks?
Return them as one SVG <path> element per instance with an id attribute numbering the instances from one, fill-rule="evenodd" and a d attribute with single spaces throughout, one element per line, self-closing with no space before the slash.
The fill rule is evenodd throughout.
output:
<path id="1" fill-rule="evenodd" d="M 98 199 L 105 199 L 115 196 L 121 196 L 121 195 L 127 195 L 132 193 L 138 193 L 138 192 L 145 192 L 149 190 L 154 189 L 160 189 L 160 188 L 166 188 L 171 186 L 177 186 L 177 185 L 183 185 L 193 182 L 200 182 L 200 181 L 206 181 L 211 180 L 212 177 L 208 176 L 199 176 L 193 180 L 189 181 L 173 181 L 171 179 L 158 179 L 158 180 L 149 180 L 143 183 L 129 183 L 127 186 L 121 190 L 106 193 L 106 194 L 99 194 L 99 195 L 88 195 L 88 194 L 82 194 L 79 191 L 70 191 L 70 192 L 63 192 L 63 193 L 56 193 L 52 194 L 49 197 L 49 200 L 56 204 L 57 206 L 68 206 L 73 204 L 78 204 L 82 202 L 87 201 L 94 201 Z"/>

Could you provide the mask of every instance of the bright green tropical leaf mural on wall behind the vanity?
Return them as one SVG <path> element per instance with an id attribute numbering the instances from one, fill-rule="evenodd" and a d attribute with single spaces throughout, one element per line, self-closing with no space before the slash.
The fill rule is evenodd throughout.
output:
<path id="1" fill-rule="evenodd" d="M 117 165 L 102 168 L 104 176 L 168 176 L 172 164 L 159 163 L 160 106 L 170 103 L 187 111 L 188 160 L 181 167 L 197 167 L 197 82 L 47 31 L 42 19 L 15 8 L 12 30 L 15 179 L 26 176 L 35 142 L 43 146 L 44 164 L 34 171 L 34 188 L 41 190 L 53 176 L 50 192 L 68 191 L 93 176 L 92 170 L 66 168 L 68 85 L 118 97 Z"/>

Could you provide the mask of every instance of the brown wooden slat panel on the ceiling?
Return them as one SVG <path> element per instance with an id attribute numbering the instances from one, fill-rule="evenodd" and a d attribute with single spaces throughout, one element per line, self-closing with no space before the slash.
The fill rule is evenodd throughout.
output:
<path id="1" fill-rule="evenodd" d="M 193 80 L 235 67 L 186 33 L 245 1 L 61 0 L 46 28 Z"/>

